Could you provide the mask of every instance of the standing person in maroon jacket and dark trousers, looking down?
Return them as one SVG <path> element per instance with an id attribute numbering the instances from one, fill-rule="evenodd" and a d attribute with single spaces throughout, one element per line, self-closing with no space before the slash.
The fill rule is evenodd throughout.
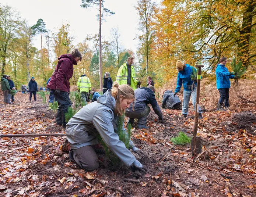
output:
<path id="1" fill-rule="evenodd" d="M 74 49 L 70 54 L 60 55 L 51 80 L 46 86 L 53 91 L 55 99 L 58 101 L 58 110 L 56 114 L 56 125 L 62 125 L 66 128 L 65 113 L 71 106 L 69 98 L 69 79 L 73 76 L 73 64 L 77 65 L 82 60 L 82 55 L 78 49 Z"/>

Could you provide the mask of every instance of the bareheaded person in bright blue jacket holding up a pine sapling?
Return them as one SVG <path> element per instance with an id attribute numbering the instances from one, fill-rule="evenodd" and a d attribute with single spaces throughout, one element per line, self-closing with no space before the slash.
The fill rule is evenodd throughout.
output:
<path id="1" fill-rule="evenodd" d="M 224 110 L 222 108 L 222 104 L 224 102 L 224 107 L 229 107 L 229 88 L 230 88 L 230 80 L 236 78 L 236 72 L 229 72 L 225 67 L 227 63 L 226 57 L 220 58 L 220 63 L 217 65 L 215 69 L 216 74 L 216 85 L 217 89 L 220 92 L 220 99 L 217 104 L 217 110 Z"/>

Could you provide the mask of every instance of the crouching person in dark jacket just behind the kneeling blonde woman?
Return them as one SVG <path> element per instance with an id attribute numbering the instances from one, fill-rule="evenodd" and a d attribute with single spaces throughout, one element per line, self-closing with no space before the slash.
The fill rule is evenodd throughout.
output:
<path id="1" fill-rule="evenodd" d="M 154 86 L 141 87 L 134 90 L 135 93 L 135 103 L 134 103 L 134 111 L 133 105 L 131 104 L 128 109 L 125 110 L 125 115 L 129 117 L 129 121 L 127 124 L 133 124 L 134 118 L 138 118 L 138 128 L 139 129 L 148 129 L 147 125 L 147 117 L 150 112 L 150 107 L 148 104 L 151 104 L 154 112 L 158 115 L 159 120 L 163 119 L 162 112 L 157 104 L 157 100 L 155 100 L 155 88 Z"/>

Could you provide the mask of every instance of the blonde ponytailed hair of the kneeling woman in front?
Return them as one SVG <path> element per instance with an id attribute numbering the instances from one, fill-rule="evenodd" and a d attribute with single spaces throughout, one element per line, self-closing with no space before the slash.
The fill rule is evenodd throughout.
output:
<path id="1" fill-rule="evenodd" d="M 123 113 L 124 113 L 124 110 L 122 110 L 122 106 L 121 106 L 120 96 L 123 97 L 123 99 L 124 98 L 128 98 L 128 99 L 135 98 L 134 91 L 131 88 L 131 86 L 126 85 L 126 84 L 119 85 L 118 82 L 113 83 L 111 94 L 116 100 L 115 114 L 118 114 L 118 115 L 123 115 Z M 134 106 L 134 102 L 133 102 L 133 106 Z"/>

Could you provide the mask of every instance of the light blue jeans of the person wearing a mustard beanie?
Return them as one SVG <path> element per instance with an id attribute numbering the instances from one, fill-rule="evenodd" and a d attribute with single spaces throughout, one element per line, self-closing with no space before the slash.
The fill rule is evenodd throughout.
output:
<path id="1" fill-rule="evenodd" d="M 194 107 L 194 110 L 196 109 L 196 89 L 192 90 L 192 92 L 188 92 L 183 90 L 183 103 L 182 103 L 182 114 L 187 115 L 189 111 L 189 100 L 190 96 L 192 97 L 192 104 Z M 199 114 L 202 113 L 200 106 L 199 108 Z"/>

